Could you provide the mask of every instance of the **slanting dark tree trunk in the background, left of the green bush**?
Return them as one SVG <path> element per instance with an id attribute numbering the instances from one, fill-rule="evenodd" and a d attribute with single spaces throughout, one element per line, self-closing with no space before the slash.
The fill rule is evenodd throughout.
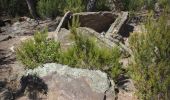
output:
<path id="1" fill-rule="evenodd" d="M 26 0 L 30 14 L 34 19 L 38 18 L 37 12 L 36 12 L 36 0 Z"/>

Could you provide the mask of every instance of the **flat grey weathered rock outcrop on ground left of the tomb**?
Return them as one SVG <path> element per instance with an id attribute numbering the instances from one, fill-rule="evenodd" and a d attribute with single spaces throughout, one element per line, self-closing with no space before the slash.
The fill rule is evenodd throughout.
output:
<path id="1" fill-rule="evenodd" d="M 27 17 L 22 17 L 19 21 L 12 25 L 6 25 L 1 27 L 2 34 L 10 35 L 32 35 L 37 30 L 44 30 L 48 28 L 49 31 L 54 31 L 58 25 L 59 21 L 56 20 L 45 20 L 39 21 L 39 25 L 34 19 Z"/>

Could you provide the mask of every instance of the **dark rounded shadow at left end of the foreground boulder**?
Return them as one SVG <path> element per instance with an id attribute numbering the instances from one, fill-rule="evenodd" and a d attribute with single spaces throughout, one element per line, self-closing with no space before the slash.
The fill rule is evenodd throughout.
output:
<path id="1" fill-rule="evenodd" d="M 30 100 L 40 100 L 39 94 L 47 95 L 48 86 L 36 75 L 23 76 L 20 80 L 21 88 L 14 93 L 15 99 L 22 97 L 26 91 Z"/>

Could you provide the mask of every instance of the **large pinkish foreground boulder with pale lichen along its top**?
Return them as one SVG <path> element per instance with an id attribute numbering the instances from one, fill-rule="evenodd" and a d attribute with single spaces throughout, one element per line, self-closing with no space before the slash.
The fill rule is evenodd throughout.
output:
<path id="1" fill-rule="evenodd" d="M 70 68 L 49 63 L 27 74 L 37 74 L 48 86 L 45 100 L 114 100 L 114 83 L 99 70 Z M 20 100 L 25 100 L 24 96 Z M 43 100 L 44 100 L 43 99 Z"/>

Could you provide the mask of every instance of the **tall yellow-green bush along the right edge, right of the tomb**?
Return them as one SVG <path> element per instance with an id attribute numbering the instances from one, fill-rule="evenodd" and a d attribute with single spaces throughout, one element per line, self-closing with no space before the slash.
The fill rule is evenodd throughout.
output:
<path id="1" fill-rule="evenodd" d="M 143 100 L 168 100 L 170 96 L 170 27 L 166 16 L 159 20 L 150 17 L 146 31 L 130 38 L 134 56 L 131 77 Z"/>

